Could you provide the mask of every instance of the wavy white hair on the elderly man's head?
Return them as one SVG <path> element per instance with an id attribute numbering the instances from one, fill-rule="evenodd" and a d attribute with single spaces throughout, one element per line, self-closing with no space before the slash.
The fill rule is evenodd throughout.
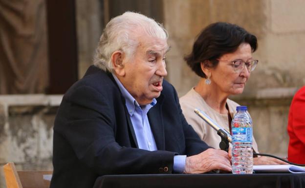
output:
<path id="1" fill-rule="evenodd" d="M 139 31 L 159 39 L 168 38 L 168 33 L 162 24 L 139 13 L 125 12 L 111 19 L 106 25 L 96 48 L 94 65 L 112 72 L 110 57 L 116 50 L 121 50 L 127 58 L 131 58 L 139 45 L 135 35 L 135 32 Z"/>

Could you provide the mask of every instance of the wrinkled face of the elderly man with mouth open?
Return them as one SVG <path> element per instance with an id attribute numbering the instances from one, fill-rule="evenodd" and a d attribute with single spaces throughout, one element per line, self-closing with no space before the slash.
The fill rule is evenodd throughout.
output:
<path id="1" fill-rule="evenodd" d="M 160 96 L 162 82 L 167 75 L 165 54 L 168 51 L 166 40 L 142 36 L 135 54 L 130 59 L 124 58 L 125 76 L 121 83 L 140 105 L 152 103 Z"/>

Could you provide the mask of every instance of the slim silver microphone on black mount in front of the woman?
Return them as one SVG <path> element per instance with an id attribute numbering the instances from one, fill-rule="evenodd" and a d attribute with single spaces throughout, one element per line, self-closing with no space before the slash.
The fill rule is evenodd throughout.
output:
<path id="1" fill-rule="evenodd" d="M 203 119 L 207 124 L 217 131 L 217 134 L 221 137 L 221 142 L 219 143 L 220 149 L 227 150 L 229 148 L 229 142 L 232 143 L 231 134 L 213 121 L 206 113 L 195 108 L 194 112 Z"/>

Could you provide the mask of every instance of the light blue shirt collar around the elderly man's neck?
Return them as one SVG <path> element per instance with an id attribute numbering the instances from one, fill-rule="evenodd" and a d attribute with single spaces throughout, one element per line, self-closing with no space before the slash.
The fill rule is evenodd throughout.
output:
<path id="1" fill-rule="evenodd" d="M 132 97 L 132 95 L 127 91 L 127 89 L 124 87 L 124 85 L 119 81 L 119 79 L 115 76 L 115 74 L 111 73 L 116 84 L 118 84 L 119 89 L 123 95 L 123 97 L 125 98 L 126 101 L 126 107 L 128 110 L 128 113 L 130 114 L 130 116 L 133 115 L 134 110 L 135 110 L 135 106 L 140 107 L 140 105 L 138 104 L 138 102 Z M 148 109 L 150 109 L 152 106 L 154 106 L 155 104 L 157 104 L 157 100 L 156 99 L 152 99 L 152 103 L 148 104 L 151 105 Z M 146 108 L 147 105 L 145 105 L 145 107 L 142 107 L 143 109 Z M 141 108 L 141 107 L 140 107 Z"/>

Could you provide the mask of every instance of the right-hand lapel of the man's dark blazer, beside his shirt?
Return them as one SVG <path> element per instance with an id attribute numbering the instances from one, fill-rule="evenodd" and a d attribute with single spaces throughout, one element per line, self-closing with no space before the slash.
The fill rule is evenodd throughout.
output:
<path id="1" fill-rule="evenodd" d="M 148 120 L 150 122 L 152 134 L 158 150 L 165 150 L 164 125 L 161 115 L 163 100 L 164 95 L 161 94 L 160 97 L 157 98 L 157 104 L 148 112 Z"/>

